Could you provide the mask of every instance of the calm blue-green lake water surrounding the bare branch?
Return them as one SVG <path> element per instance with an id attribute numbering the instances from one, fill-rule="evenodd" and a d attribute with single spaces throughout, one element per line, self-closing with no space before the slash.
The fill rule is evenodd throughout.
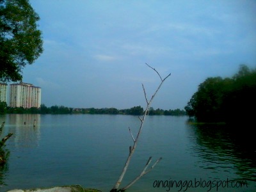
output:
<path id="1" fill-rule="evenodd" d="M 138 116 L 129 115 L 0 116 L 4 121 L 1 137 L 13 136 L 6 141 L 10 157 L 0 170 L 0 191 L 70 184 L 109 191 L 133 144 L 128 127 L 136 136 L 140 126 Z M 137 177 L 152 156 L 152 163 L 163 159 L 127 191 L 169 191 L 170 182 L 170 191 L 179 191 L 182 186 L 176 188 L 175 181 L 182 183 L 180 191 L 217 191 L 215 182 L 218 191 L 256 191 L 255 141 L 244 143 L 223 127 L 187 121 L 188 116 L 147 116 L 121 186 Z M 164 186 L 157 185 L 161 180 Z M 244 180 L 247 187 L 240 188 Z M 186 188 L 189 184 L 199 186 Z"/>

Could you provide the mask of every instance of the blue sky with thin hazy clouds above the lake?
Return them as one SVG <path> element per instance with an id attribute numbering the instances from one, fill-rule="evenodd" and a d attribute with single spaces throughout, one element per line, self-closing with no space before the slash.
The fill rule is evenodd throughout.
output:
<path id="1" fill-rule="evenodd" d="M 23 81 L 48 107 L 184 109 L 207 77 L 256 67 L 256 1 L 31 0 L 44 53 Z"/>

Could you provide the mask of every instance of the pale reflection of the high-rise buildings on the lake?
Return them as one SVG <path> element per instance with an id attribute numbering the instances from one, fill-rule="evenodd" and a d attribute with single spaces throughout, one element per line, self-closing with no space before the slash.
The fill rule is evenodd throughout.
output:
<path id="1" fill-rule="evenodd" d="M 4 122 L 3 135 L 13 133 L 15 147 L 36 147 L 40 140 L 40 114 L 10 114 L 0 116 L 0 122 Z"/>

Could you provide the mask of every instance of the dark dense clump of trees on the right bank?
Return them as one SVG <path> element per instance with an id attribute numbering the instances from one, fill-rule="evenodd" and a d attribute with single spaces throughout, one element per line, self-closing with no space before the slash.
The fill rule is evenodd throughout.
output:
<path id="1" fill-rule="evenodd" d="M 256 108 L 256 68 L 240 65 L 232 77 L 209 77 L 199 84 L 185 107 L 198 122 L 253 123 Z"/>

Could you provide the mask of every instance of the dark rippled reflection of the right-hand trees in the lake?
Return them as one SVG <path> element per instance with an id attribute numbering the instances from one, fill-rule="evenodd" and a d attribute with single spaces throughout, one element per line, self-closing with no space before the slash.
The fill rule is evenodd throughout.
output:
<path id="1" fill-rule="evenodd" d="M 241 178 L 256 181 L 256 147 L 253 134 L 225 125 L 189 125 L 193 151 L 202 157 L 201 168 L 212 172 L 236 172 Z M 239 130 L 239 131 L 237 131 Z M 237 178 L 235 178 L 237 179 Z"/>

